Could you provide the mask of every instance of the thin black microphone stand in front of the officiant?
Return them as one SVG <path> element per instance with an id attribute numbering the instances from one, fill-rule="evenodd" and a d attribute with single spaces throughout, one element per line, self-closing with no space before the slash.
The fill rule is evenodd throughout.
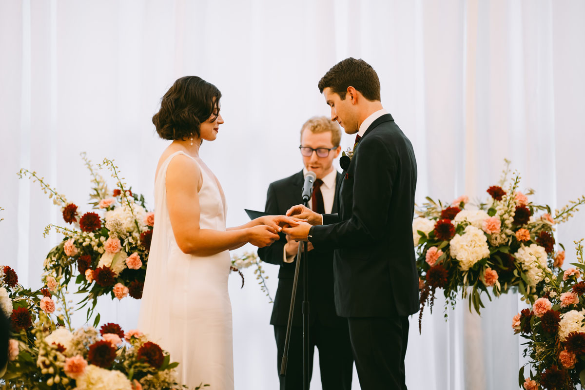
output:
<path id="1" fill-rule="evenodd" d="M 312 189 L 311 189 L 312 192 Z M 309 197 L 310 199 L 310 197 Z M 304 206 L 308 205 L 307 201 L 304 201 Z M 292 281 L 292 296 L 291 296 L 291 307 L 288 311 L 288 322 L 287 322 L 287 334 L 284 340 L 284 352 L 283 360 L 280 365 L 280 376 L 284 377 L 287 374 L 287 360 L 288 360 L 288 346 L 291 338 L 291 326 L 292 326 L 292 315 L 294 310 L 295 298 L 297 296 L 298 287 L 298 274 L 301 265 L 301 259 L 304 258 L 305 265 L 302 272 L 303 288 L 302 288 L 302 379 L 303 379 L 303 390 L 309 389 L 309 273 L 308 273 L 308 251 L 307 241 L 301 241 L 298 246 L 297 252 L 297 264 L 295 265 L 294 279 Z"/>

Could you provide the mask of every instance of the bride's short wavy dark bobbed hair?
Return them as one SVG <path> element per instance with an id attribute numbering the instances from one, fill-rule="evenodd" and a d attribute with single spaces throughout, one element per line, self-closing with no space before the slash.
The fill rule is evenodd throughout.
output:
<path id="1" fill-rule="evenodd" d="M 177 79 L 160 100 L 160 110 L 152 117 L 162 139 L 186 140 L 199 137 L 199 125 L 213 122 L 219 115 L 221 92 L 197 76 Z"/>

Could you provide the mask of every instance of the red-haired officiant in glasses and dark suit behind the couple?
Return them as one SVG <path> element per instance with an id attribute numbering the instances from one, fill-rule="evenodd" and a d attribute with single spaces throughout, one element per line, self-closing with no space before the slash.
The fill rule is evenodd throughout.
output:
<path id="1" fill-rule="evenodd" d="M 302 203 L 301 190 L 304 174 L 315 172 L 316 180 L 309 207 L 318 213 L 336 213 L 338 199 L 336 184 L 342 175 L 333 167 L 339 156 L 341 130 L 336 122 L 325 116 L 307 120 L 301 127 L 299 150 L 304 168 L 269 185 L 265 211 L 270 215 L 282 215 L 294 205 Z M 280 364 L 287 332 L 287 319 L 292 295 L 292 279 L 298 242 L 288 240 L 285 234 L 271 246 L 260 248 L 258 254 L 266 263 L 280 265 L 278 289 L 270 325 L 274 326 L 277 346 L 276 375 Z M 324 390 L 349 390 L 352 386 L 353 356 L 349 341 L 347 319 L 335 313 L 333 302 L 333 251 L 314 250 L 308 245 L 309 272 L 309 370 L 312 374 L 315 347 L 319 350 L 319 368 Z M 287 375 L 280 377 L 281 390 L 302 389 L 302 278 L 298 280 L 292 319 L 291 339 L 288 349 Z"/>

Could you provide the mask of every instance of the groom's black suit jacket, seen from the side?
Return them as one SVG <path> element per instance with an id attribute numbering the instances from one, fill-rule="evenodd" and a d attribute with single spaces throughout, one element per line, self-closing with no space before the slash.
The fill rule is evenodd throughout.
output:
<path id="1" fill-rule="evenodd" d="M 417 162 L 390 114 L 374 120 L 338 185 L 339 213 L 312 229 L 335 249 L 335 306 L 343 317 L 406 316 L 419 309 L 412 240 Z"/>

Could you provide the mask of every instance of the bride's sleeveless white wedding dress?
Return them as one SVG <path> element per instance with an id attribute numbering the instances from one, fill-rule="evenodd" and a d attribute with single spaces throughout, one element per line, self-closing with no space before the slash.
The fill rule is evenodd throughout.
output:
<path id="1" fill-rule="evenodd" d="M 178 361 L 178 380 L 189 388 L 233 390 L 229 251 L 192 256 L 177 246 L 168 217 L 165 178 L 171 154 L 154 183 L 154 230 L 140 304 L 139 329 Z M 188 156 L 190 157 L 190 156 Z M 190 157 L 192 158 L 192 157 Z M 201 229 L 225 230 L 226 205 L 215 175 L 202 163 Z"/>

